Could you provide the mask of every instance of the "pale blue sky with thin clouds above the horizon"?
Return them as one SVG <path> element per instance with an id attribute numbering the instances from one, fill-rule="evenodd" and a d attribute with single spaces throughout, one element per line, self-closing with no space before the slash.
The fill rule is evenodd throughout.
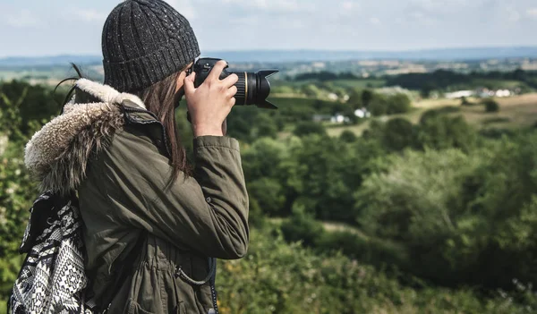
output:
<path id="1" fill-rule="evenodd" d="M 118 0 L 0 0 L 0 57 L 100 55 Z M 537 0 L 168 0 L 201 52 L 537 46 Z"/>

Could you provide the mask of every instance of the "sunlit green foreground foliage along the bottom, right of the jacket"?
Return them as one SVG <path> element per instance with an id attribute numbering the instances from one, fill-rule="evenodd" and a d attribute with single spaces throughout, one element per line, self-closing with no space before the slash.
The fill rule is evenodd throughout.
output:
<path id="1" fill-rule="evenodd" d="M 319 254 L 281 235 L 254 230 L 245 259 L 219 261 L 219 310 L 223 314 L 262 313 L 531 313 L 535 308 L 502 292 L 481 300 L 457 291 L 399 284 L 373 267 L 341 254 Z M 535 300 L 533 293 L 517 293 Z"/>

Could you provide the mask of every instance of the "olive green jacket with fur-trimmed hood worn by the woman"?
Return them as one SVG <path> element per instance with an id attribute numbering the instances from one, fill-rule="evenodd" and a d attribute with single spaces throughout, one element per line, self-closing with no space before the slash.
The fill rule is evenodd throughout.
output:
<path id="1" fill-rule="evenodd" d="M 217 313 L 213 258 L 240 259 L 249 242 L 237 140 L 194 139 L 192 177 L 165 190 L 162 124 L 133 95 L 76 86 L 30 140 L 26 164 L 43 191 L 78 191 L 88 294 L 109 313 Z"/>

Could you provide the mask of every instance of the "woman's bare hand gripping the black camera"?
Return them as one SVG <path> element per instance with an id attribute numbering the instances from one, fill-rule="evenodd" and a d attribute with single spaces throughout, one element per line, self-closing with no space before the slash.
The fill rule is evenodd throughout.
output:
<path id="1" fill-rule="evenodd" d="M 194 88 L 195 72 L 184 79 L 184 97 L 191 115 L 194 137 L 224 135 L 222 126 L 235 104 L 237 88 L 234 83 L 239 80 L 236 74 L 231 74 L 220 81 L 220 74 L 226 65 L 226 61 L 218 61 L 197 89 Z"/>

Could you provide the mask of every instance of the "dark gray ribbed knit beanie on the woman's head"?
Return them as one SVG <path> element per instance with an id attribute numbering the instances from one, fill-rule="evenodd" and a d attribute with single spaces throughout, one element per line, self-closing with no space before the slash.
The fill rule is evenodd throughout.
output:
<path id="1" fill-rule="evenodd" d="M 108 15 L 102 38 L 105 84 L 145 89 L 200 55 L 190 23 L 162 0 L 127 0 Z"/>

